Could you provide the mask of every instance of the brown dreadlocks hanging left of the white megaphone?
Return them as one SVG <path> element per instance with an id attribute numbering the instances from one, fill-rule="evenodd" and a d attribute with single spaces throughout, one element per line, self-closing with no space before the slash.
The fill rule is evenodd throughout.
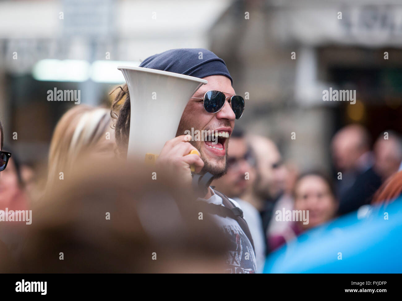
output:
<path id="1" fill-rule="evenodd" d="M 115 121 L 115 138 L 118 151 L 121 157 L 127 156 L 128 138 L 130 134 L 130 95 L 127 84 L 115 88 L 109 95 L 120 89 L 112 102 L 110 115 Z"/>

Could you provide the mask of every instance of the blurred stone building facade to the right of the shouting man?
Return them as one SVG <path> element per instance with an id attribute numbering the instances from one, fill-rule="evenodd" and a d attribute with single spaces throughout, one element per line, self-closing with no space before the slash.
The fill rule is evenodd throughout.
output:
<path id="1" fill-rule="evenodd" d="M 249 92 L 238 124 L 273 138 L 301 169 L 328 170 L 339 127 L 402 132 L 401 29 L 400 1 L 235 1 L 212 27 L 211 49 L 236 93 Z M 323 101 L 330 87 L 355 89 L 356 103 Z"/>

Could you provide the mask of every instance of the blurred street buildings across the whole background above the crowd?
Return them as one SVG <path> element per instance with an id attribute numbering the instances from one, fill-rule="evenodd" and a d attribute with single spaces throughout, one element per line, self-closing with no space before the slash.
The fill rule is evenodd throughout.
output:
<path id="1" fill-rule="evenodd" d="M 0 0 L 0 118 L 6 143 L 41 162 L 74 106 L 47 101 L 48 90 L 108 105 L 124 83 L 118 65 L 203 47 L 225 60 L 236 93 L 249 94 L 236 124 L 271 137 L 301 169 L 329 171 L 343 125 L 361 123 L 373 139 L 402 132 L 401 46 L 395 0 Z M 355 89 L 356 103 L 323 101 L 330 87 Z"/>

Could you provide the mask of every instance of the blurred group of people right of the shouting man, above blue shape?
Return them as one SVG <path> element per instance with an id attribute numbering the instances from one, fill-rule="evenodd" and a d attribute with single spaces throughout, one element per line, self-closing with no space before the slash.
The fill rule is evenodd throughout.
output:
<path id="1" fill-rule="evenodd" d="M 365 127 L 347 125 L 332 138 L 331 177 L 324 171 L 287 165 L 271 139 L 235 128 L 229 141 L 228 173 L 213 183 L 242 206 L 262 268 L 267 254 L 306 230 L 351 212 L 367 213 L 370 204 L 400 196 L 401 150 L 401 137 L 394 131 L 384 131 L 371 147 Z M 249 179 L 244 176 L 248 172 Z M 287 210 L 308 211 L 308 223 L 283 218 Z"/>

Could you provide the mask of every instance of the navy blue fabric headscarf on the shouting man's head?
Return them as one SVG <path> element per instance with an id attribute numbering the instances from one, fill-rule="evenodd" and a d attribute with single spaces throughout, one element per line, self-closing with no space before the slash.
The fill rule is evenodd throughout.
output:
<path id="1" fill-rule="evenodd" d="M 201 79 L 211 75 L 224 75 L 230 79 L 233 85 L 233 79 L 224 60 L 204 48 L 170 49 L 146 58 L 139 67 L 190 75 Z"/>

